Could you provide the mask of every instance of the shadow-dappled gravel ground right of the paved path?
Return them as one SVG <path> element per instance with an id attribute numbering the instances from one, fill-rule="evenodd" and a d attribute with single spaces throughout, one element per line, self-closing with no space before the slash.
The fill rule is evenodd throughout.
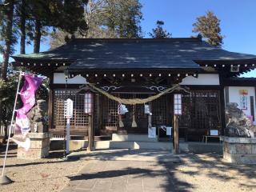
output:
<path id="1" fill-rule="evenodd" d="M 226 163 L 222 155 L 190 154 L 169 169 L 186 191 L 256 191 L 256 165 Z"/>

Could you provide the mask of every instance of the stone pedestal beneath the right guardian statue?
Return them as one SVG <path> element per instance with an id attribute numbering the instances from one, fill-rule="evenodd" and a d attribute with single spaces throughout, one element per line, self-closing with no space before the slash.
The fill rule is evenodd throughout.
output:
<path id="1" fill-rule="evenodd" d="M 238 164 L 256 164 L 256 138 L 223 138 L 223 158 Z"/>

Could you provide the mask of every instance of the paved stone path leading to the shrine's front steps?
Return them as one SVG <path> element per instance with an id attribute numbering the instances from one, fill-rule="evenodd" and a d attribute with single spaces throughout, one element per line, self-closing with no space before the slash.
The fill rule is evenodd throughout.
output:
<path id="1" fill-rule="evenodd" d="M 176 188 L 176 179 L 170 172 L 180 164 L 180 158 L 168 151 L 107 150 L 69 156 L 78 157 L 90 161 L 78 175 L 70 177 L 70 183 L 63 192 L 181 190 Z"/>

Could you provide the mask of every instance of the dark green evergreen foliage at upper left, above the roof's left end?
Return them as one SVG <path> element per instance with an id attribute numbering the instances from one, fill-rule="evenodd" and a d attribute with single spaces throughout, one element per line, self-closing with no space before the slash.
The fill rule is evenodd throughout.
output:
<path id="1" fill-rule="evenodd" d="M 84 6 L 87 0 L 22 1 L 26 6 L 21 5 L 20 9 L 20 31 L 21 34 L 24 34 L 24 28 L 27 30 L 28 42 L 34 42 L 34 53 L 40 51 L 42 37 L 47 36 L 52 28 L 58 28 L 70 34 L 74 34 L 77 30 L 80 33 L 87 30 L 84 18 Z M 22 14 L 24 12 L 27 14 Z M 25 18 L 25 21 L 22 18 Z M 24 37 L 24 35 L 22 36 Z M 23 38 L 21 43 L 25 44 L 24 41 Z"/>

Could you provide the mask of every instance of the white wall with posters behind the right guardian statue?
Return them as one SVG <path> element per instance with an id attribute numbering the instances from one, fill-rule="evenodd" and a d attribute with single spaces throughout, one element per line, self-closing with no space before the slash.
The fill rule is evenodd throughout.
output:
<path id="1" fill-rule="evenodd" d="M 247 90 L 248 91 L 248 95 L 247 95 L 247 110 L 242 110 L 246 115 L 251 115 L 251 111 L 250 111 L 250 96 L 254 97 L 254 119 L 255 118 L 255 87 L 254 86 L 229 86 L 228 87 L 229 90 L 229 102 L 236 102 L 238 103 L 238 107 L 240 108 L 241 104 L 240 104 L 240 94 L 239 94 L 239 90 Z M 254 121 L 255 124 L 255 121 Z"/>

